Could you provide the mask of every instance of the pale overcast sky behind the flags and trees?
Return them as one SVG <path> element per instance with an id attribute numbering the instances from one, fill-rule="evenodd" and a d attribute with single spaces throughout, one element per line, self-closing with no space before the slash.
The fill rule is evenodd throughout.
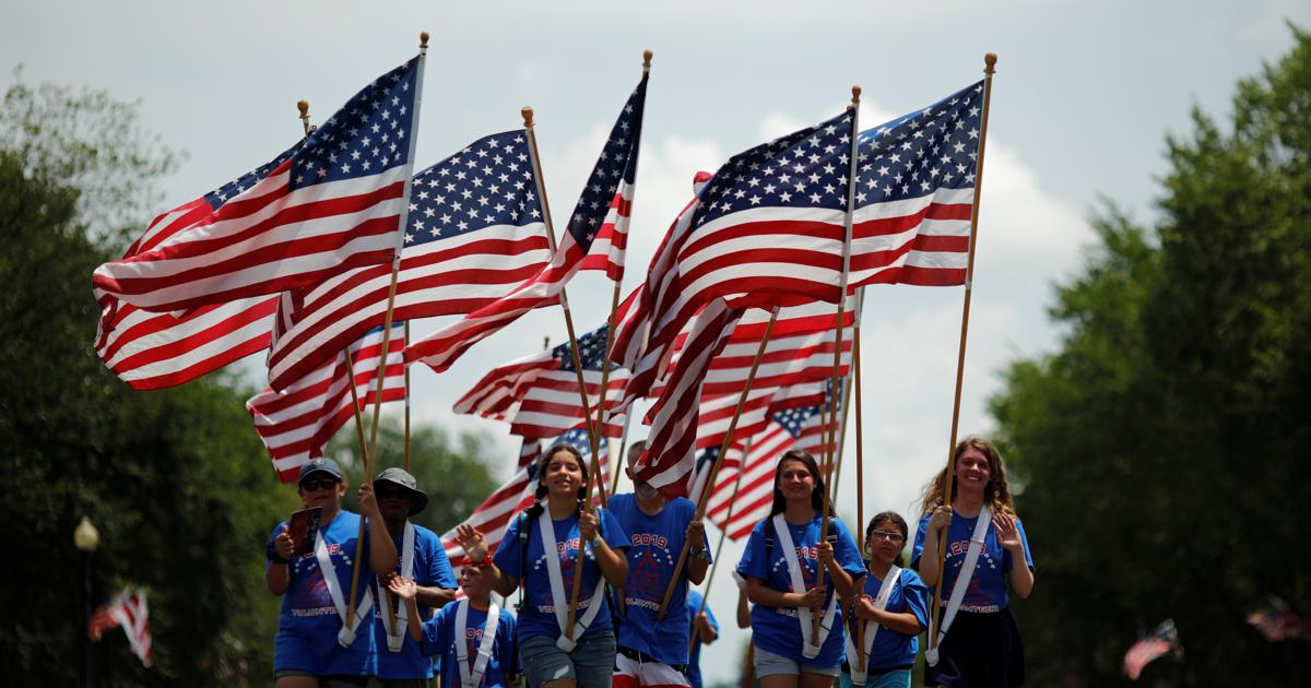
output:
<path id="1" fill-rule="evenodd" d="M 961 417 L 962 434 L 985 435 L 998 372 L 1059 341 L 1045 315 L 1050 286 L 1080 265 L 1099 198 L 1150 220 L 1164 138 L 1189 131 L 1193 105 L 1226 114 L 1235 80 L 1290 47 L 1285 20 L 1311 26 L 1311 3 L 1294 0 L 3 4 L 0 66 L 25 64 L 34 83 L 139 98 L 143 123 L 189 152 L 164 181 L 160 211 L 271 159 L 300 136 L 298 100 L 312 102 L 315 121 L 326 118 L 413 55 L 426 29 L 418 165 L 520 126 L 519 107 L 532 105 L 562 218 L 652 48 L 625 292 L 697 169 L 831 117 L 855 83 L 864 86 L 863 127 L 920 109 L 979 79 L 983 54 L 996 52 Z M 608 295 L 599 274 L 574 280 L 581 330 L 604 320 Z M 960 288 L 868 292 L 867 515 L 916 518 L 919 487 L 945 461 L 960 309 Z M 416 333 L 442 322 L 416 324 Z M 416 368 L 416 415 L 494 436 L 505 457 L 497 472 L 507 476 L 517 446 L 506 427 L 454 417 L 451 402 L 492 366 L 538 350 L 543 335 L 562 341 L 558 309 L 524 317 L 440 377 Z M 645 432 L 635 425 L 635 438 Z M 853 523 L 855 490 L 843 482 L 839 510 Z M 1030 533 L 1040 567 L 1045 540 Z M 739 552 L 730 544 L 725 564 Z M 721 573 L 709 599 L 732 622 L 729 581 Z M 743 638 L 729 633 L 716 650 L 737 653 Z M 735 662 L 705 664 L 711 681 L 738 671 Z"/>

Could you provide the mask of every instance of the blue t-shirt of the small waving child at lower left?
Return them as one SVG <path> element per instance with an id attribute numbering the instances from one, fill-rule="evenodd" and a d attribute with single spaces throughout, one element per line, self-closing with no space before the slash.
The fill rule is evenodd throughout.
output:
<path id="1" fill-rule="evenodd" d="M 423 622 L 422 653 L 425 657 L 437 659 L 442 674 L 442 685 L 460 685 L 460 660 L 459 655 L 455 654 L 455 612 L 458 608 L 459 603 L 452 602 Z M 464 642 L 468 647 L 471 668 L 479 657 L 479 643 L 482 642 L 482 626 L 486 624 L 486 609 L 469 605 L 469 615 L 464 621 Z M 501 609 L 499 619 L 496 626 L 496 642 L 492 643 L 492 658 L 488 659 L 486 671 L 482 674 L 481 685 L 484 688 L 506 685 L 506 674 L 514 667 L 514 615 Z"/>

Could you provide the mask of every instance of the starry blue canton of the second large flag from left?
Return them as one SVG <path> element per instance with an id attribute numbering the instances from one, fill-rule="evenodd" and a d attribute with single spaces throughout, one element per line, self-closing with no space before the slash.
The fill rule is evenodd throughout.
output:
<path id="1" fill-rule="evenodd" d="M 414 176 L 405 245 L 541 221 L 524 130 L 484 136 Z"/>

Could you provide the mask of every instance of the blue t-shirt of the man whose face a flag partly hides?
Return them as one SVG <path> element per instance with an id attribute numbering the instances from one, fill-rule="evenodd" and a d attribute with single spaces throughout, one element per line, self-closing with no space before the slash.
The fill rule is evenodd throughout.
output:
<path id="1" fill-rule="evenodd" d="M 687 524 L 696 516 L 696 505 L 678 497 L 667 502 L 659 514 L 648 516 L 637 507 L 636 495 L 616 494 L 610 499 L 610 512 L 628 533 L 628 581 L 624 583 L 624 621 L 619 624 L 617 642 L 654 657 L 657 662 L 686 664 L 687 615 L 667 613 L 661 621 L 657 617 L 687 540 Z M 704 537 L 701 541 L 701 546 L 709 548 Z M 682 609 L 686 600 L 684 565 L 669 600 L 670 611 Z"/>

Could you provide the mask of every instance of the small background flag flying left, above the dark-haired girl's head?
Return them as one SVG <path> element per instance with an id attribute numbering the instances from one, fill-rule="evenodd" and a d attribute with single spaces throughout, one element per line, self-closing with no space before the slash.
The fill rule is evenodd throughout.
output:
<path id="1" fill-rule="evenodd" d="M 600 404 L 600 376 L 606 363 L 608 325 L 578 337 L 587 406 Z M 607 408 L 617 410 L 628 371 L 611 364 L 606 380 Z M 569 343 L 493 368 L 454 406 L 455 413 L 477 414 L 510 423 L 510 434 L 523 438 L 553 438 L 583 425 L 578 373 Z M 606 419 L 604 436 L 623 434 L 623 414 Z"/>

